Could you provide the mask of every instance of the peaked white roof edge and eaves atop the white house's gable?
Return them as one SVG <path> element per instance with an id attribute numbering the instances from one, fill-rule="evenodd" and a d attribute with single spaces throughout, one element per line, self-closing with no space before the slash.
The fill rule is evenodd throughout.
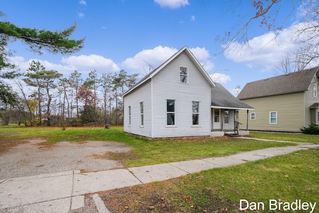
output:
<path id="1" fill-rule="evenodd" d="M 154 69 L 152 72 L 144 76 L 138 83 L 136 83 L 132 88 L 130 88 L 124 95 L 129 94 L 139 86 L 141 86 L 143 83 L 145 83 L 147 80 L 151 79 L 154 75 L 156 75 L 160 70 L 162 70 L 168 63 L 170 63 L 174 58 L 176 58 L 178 55 L 180 55 L 182 52 L 185 52 L 187 56 L 190 58 L 190 60 L 193 62 L 193 64 L 196 66 L 196 68 L 201 72 L 201 74 L 204 76 L 206 81 L 211 85 L 215 86 L 213 80 L 209 77 L 207 72 L 204 70 L 204 68 L 200 65 L 200 63 L 197 61 L 195 56 L 192 54 L 192 52 L 189 50 L 187 46 L 184 46 L 180 50 L 178 50 L 173 56 L 171 56 L 169 59 L 167 59 L 164 63 L 162 63 L 159 67 Z"/>

